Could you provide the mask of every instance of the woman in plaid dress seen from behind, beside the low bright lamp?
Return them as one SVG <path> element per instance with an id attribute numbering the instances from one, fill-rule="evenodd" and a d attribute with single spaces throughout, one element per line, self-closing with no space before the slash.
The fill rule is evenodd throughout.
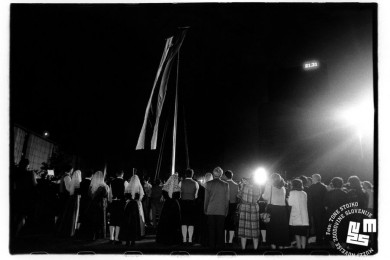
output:
<path id="1" fill-rule="evenodd" d="M 257 201 L 261 197 L 260 186 L 257 186 L 253 177 L 243 181 L 243 186 L 237 197 L 241 199 L 239 204 L 238 236 L 241 238 L 241 248 L 245 250 L 246 240 L 253 239 L 253 247 L 256 250 L 259 245 L 259 205 Z"/>

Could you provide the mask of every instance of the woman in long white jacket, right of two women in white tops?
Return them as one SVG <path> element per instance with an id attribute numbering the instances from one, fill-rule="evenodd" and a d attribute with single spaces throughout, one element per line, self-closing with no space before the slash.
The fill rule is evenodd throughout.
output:
<path id="1" fill-rule="evenodd" d="M 307 211 L 307 194 L 303 191 L 303 183 L 299 179 L 291 182 L 292 189 L 288 198 L 291 206 L 290 230 L 295 236 L 298 249 L 306 248 L 306 238 L 309 231 L 309 214 Z"/>

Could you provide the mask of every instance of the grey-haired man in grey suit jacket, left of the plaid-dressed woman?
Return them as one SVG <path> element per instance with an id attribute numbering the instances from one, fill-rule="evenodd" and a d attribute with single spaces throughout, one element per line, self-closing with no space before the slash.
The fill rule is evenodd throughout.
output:
<path id="1" fill-rule="evenodd" d="M 213 171 L 214 179 L 206 183 L 204 212 L 207 216 L 209 245 L 222 248 L 225 242 L 225 217 L 229 211 L 229 184 L 220 178 L 223 171 L 217 167 Z"/>

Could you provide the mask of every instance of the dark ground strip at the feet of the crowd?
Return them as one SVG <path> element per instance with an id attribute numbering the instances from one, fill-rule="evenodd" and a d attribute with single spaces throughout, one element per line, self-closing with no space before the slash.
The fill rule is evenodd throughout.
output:
<path id="1" fill-rule="evenodd" d="M 10 244 L 12 254 L 164 254 L 164 255 L 291 255 L 291 254 L 313 254 L 328 255 L 337 254 L 336 251 L 309 245 L 305 251 L 297 251 L 294 248 L 283 250 L 271 250 L 267 245 L 261 245 L 254 251 L 252 242 L 249 241 L 247 250 L 242 251 L 235 241 L 233 246 L 223 250 L 211 251 L 201 245 L 173 245 L 166 246 L 155 242 L 155 235 L 148 232 L 142 240 L 137 241 L 134 246 L 125 244 L 113 245 L 107 239 L 95 241 L 76 241 L 70 238 L 58 238 L 50 234 L 23 234 L 14 239 Z"/>

